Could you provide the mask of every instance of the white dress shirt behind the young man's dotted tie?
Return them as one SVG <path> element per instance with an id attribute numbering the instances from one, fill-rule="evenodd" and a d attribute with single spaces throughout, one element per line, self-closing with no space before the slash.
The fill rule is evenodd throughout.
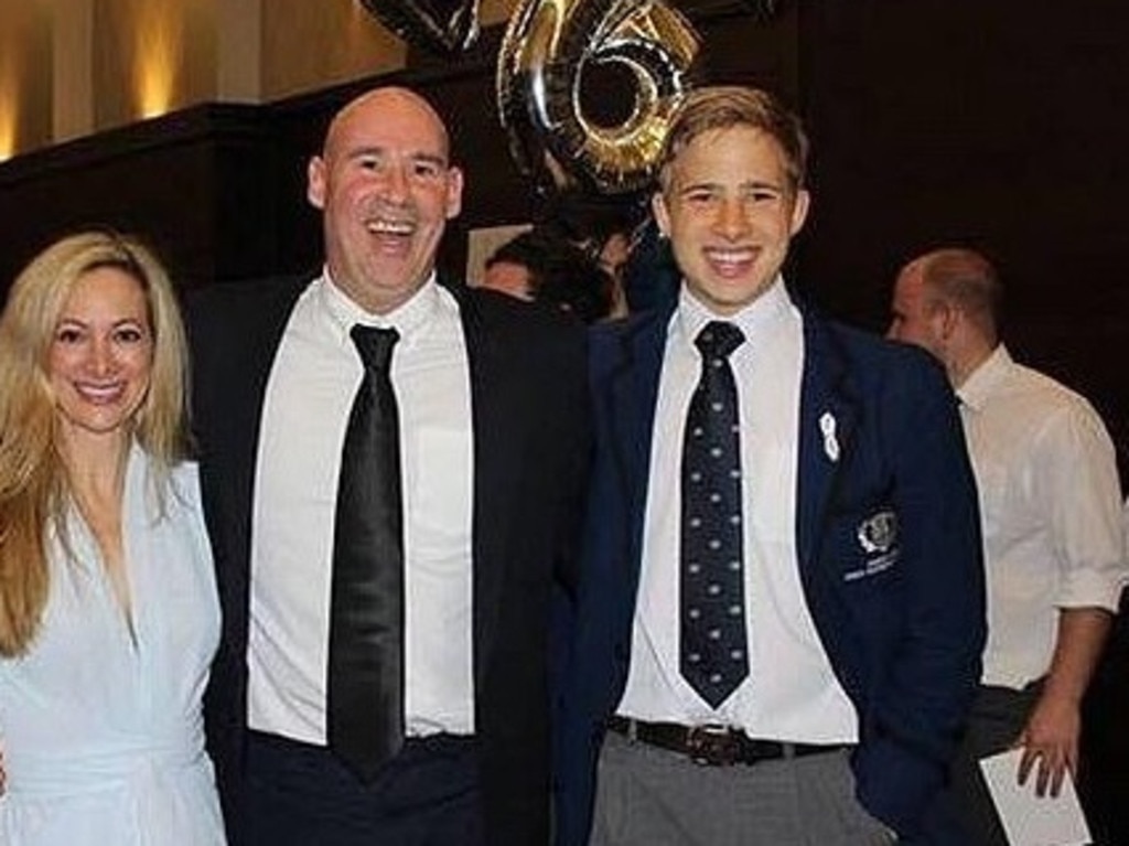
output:
<path id="1" fill-rule="evenodd" d="M 737 384 L 750 673 L 714 710 L 679 671 L 682 437 L 701 373 L 693 340 L 710 320 L 745 334 Z M 631 665 L 619 713 L 650 722 L 725 723 L 781 741 L 857 740 L 857 715 L 820 643 L 799 579 L 796 489 L 803 321 L 777 279 L 749 307 L 716 317 L 683 287 L 659 377 Z"/>

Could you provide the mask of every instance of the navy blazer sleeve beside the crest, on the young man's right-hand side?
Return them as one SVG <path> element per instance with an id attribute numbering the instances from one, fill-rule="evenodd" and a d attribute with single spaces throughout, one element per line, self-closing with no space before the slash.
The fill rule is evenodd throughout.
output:
<path id="1" fill-rule="evenodd" d="M 956 402 L 931 361 L 908 361 L 887 381 L 879 438 L 900 524 L 900 608 L 890 609 L 892 648 L 856 753 L 860 800 L 903 835 L 922 826 L 944 783 L 986 638 L 980 515 Z"/>

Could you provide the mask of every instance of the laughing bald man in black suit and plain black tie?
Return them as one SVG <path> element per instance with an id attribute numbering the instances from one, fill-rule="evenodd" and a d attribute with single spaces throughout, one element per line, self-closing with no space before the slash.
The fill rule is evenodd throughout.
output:
<path id="1" fill-rule="evenodd" d="M 584 485 L 585 341 L 555 315 L 437 284 L 463 190 L 448 147 L 417 94 L 358 97 L 308 167 L 321 274 L 217 286 L 192 303 L 225 612 L 207 716 L 235 844 L 549 837 L 546 620 Z M 391 338 L 384 377 L 362 363 L 360 338 L 374 337 Z M 349 447 L 366 427 L 350 415 L 382 378 L 399 450 L 358 474 Z M 392 515 L 387 535 L 348 560 L 393 581 L 358 593 L 339 581 L 339 547 L 357 533 L 339 506 L 374 477 L 394 491 L 373 500 Z M 341 596 L 357 604 L 342 612 Z M 345 618 L 369 638 L 349 640 L 348 666 L 379 697 L 360 671 L 338 672 Z M 392 663 L 371 663 L 387 635 Z"/>

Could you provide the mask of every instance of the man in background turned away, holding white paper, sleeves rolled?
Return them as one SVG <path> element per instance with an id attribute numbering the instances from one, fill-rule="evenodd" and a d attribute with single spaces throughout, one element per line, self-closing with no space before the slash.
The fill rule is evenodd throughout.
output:
<path id="1" fill-rule="evenodd" d="M 1127 576 L 1113 444 L 1084 398 L 1012 359 L 1000 296 L 984 256 L 937 250 L 899 273 L 889 331 L 944 364 L 980 491 L 988 645 L 954 791 L 984 844 L 1006 840 L 979 758 L 1023 747 L 1018 778 L 1040 794 L 1077 776 L 1082 699 Z"/>

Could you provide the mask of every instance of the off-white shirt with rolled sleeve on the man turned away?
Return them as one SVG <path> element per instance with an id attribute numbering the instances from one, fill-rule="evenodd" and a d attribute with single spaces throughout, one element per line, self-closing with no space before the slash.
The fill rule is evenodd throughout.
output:
<path id="1" fill-rule="evenodd" d="M 1058 609 L 1117 610 L 1127 566 L 1113 444 L 1084 398 L 1004 344 L 957 395 L 983 524 L 983 682 L 1022 688 L 1050 669 Z"/>

